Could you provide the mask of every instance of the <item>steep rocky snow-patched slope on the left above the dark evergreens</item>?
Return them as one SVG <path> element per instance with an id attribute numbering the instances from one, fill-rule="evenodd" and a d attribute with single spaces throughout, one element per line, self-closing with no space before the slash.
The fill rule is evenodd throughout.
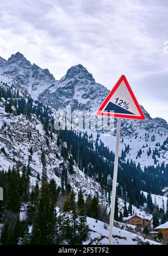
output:
<path id="1" fill-rule="evenodd" d="M 48 179 L 54 179 L 57 186 L 60 186 L 62 164 L 68 170 L 68 160 L 64 160 L 61 156 L 61 146 L 58 147 L 57 135 L 53 133 L 53 141 L 49 138 L 49 147 L 46 145 L 45 131 L 43 125 L 36 118 L 35 115 L 31 116 L 31 119 L 26 119 L 24 115 L 15 116 L 8 114 L 4 111 L 4 106 L 0 105 L 0 169 L 8 170 L 9 167 L 20 164 L 29 164 L 31 170 L 30 182 L 31 186 L 35 186 L 38 173 L 40 178 L 43 173 L 43 165 L 41 164 L 41 152 L 42 149 L 45 152 L 46 172 Z M 6 123 L 6 126 L 2 128 L 2 124 Z M 31 133 L 31 137 L 28 136 L 28 132 Z M 65 144 L 66 146 L 66 144 Z M 30 158 L 30 147 L 32 147 L 32 155 Z M 5 154 L 1 151 L 5 150 Z M 74 164 L 74 174 L 68 173 L 68 183 L 73 187 L 73 190 L 77 192 L 82 187 L 83 195 L 94 196 L 95 193 L 99 195 L 99 201 L 106 201 L 102 197 L 101 186 L 94 179 L 88 177 L 83 173 L 76 164 Z"/>

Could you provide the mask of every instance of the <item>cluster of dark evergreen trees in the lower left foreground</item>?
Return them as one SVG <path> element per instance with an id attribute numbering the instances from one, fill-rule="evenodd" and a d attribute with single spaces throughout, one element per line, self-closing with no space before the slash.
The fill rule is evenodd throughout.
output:
<path id="1" fill-rule="evenodd" d="M 55 181 L 52 179 L 48 182 L 44 177 L 40 189 L 36 183 L 31 192 L 29 185 L 26 167 L 22 168 L 22 175 L 18 168 L 0 172 L 0 186 L 4 188 L 4 201 L 0 205 L 0 222 L 3 222 L 1 244 L 43 245 L 59 244 L 63 241 L 68 244 L 81 244 L 88 233 L 86 203 L 82 190 L 78 193 L 77 203 L 74 191 L 71 189 L 66 192 L 63 209 L 58 214 L 55 207 L 62 192 L 60 187 L 56 187 Z M 27 218 L 20 221 L 23 204 L 26 205 Z M 94 206 L 92 214 L 96 213 Z"/>

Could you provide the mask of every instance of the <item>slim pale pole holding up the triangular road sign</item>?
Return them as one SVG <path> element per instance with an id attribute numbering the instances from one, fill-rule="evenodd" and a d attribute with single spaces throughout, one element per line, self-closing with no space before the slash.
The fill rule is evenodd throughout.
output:
<path id="1" fill-rule="evenodd" d="M 116 179 L 117 179 L 117 172 L 118 172 L 120 129 L 121 129 L 121 119 L 119 118 L 117 123 L 117 132 L 116 132 L 113 190 L 112 190 L 112 196 L 111 196 L 110 227 L 109 227 L 109 245 L 112 244 L 112 240 L 113 240 L 113 222 L 114 222 L 114 209 L 115 209 Z"/>

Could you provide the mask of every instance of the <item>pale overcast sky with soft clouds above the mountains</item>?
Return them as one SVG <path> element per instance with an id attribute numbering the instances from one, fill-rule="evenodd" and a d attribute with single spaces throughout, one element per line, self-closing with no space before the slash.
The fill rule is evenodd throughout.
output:
<path id="1" fill-rule="evenodd" d="M 1 0 L 0 56 L 19 51 L 56 79 L 80 63 L 109 89 L 125 74 L 139 103 L 168 121 L 167 25 L 166 0 Z"/>

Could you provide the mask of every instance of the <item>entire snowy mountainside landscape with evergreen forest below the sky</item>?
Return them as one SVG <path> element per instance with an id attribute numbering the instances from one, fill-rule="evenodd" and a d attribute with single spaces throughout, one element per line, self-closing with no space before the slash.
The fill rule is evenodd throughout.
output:
<path id="1" fill-rule="evenodd" d="M 20 52 L 0 57 L 1 244 L 107 243 L 115 131 L 56 131 L 54 111 L 96 111 L 108 93 L 81 64 L 56 80 Z M 114 244 L 167 242 L 149 232 L 168 221 L 168 124 L 141 107 L 143 122 L 122 119 Z"/>

